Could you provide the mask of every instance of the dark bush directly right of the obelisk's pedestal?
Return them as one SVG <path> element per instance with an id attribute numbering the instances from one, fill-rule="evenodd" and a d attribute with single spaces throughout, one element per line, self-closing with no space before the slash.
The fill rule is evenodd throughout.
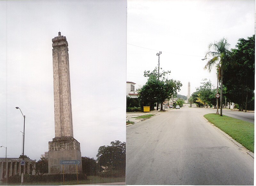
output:
<path id="1" fill-rule="evenodd" d="M 92 176 L 97 174 L 96 160 L 90 157 L 82 157 L 82 168 L 83 173 L 87 176 Z"/>

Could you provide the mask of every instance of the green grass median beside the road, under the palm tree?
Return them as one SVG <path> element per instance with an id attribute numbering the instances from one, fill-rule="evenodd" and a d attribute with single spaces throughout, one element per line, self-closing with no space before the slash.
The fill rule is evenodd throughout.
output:
<path id="1" fill-rule="evenodd" d="M 242 144 L 248 150 L 254 152 L 254 124 L 236 118 L 216 114 L 204 115 L 208 121 L 217 126 L 223 132 L 226 132 L 238 143 Z"/>

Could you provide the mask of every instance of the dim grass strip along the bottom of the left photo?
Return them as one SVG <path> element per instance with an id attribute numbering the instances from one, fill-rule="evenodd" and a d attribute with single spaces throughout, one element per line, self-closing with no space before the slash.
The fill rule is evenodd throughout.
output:
<path id="1" fill-rule="evenodd" d="M 76 180 L 73 181 L 65 181 L 65 185 L 77 185 L 77 184 L 96 184 L 96 183 L 113 183 L 113 182 L 125 182 L 125 177 L 119 178 L 103 178 L 100 176 L 87 176 L 87 180 Z M 20 185 L 8 183 L 8 185 Z M 64 185 L 62 182 L 33 182 L 33 183 L 23 183 L 23 185 Z"/>

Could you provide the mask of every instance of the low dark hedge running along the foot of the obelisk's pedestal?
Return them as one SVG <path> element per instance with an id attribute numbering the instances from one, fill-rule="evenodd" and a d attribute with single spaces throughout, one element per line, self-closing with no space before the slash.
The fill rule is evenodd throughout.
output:
<path id="1" fill-rule="evenodd" d="M 76 180 L 76 174 L 64 174 L 65 181 L 68 180 Z M 20 183 L 21 176 L 15 175 L 8 177 L 9 183 Z M 78 180 L 85 180 L 84 174 L 78 174 Z M 55 174 L 55 175 L 24 175 L 24 183 L 34 183 L 34 182 L 56 182 L 56 181 L 63 181 L 62 174 Z"/>

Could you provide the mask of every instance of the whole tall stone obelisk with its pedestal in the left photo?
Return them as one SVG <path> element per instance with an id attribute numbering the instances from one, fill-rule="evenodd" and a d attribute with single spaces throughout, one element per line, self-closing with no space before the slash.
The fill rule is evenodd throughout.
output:
<path id="1" fill-rule="evenodd" d="M 52 39 L 55 138 L 49 141 L 49 174 L 82 173 L 80 143 L 73 137 L 68 42 Z"/>

